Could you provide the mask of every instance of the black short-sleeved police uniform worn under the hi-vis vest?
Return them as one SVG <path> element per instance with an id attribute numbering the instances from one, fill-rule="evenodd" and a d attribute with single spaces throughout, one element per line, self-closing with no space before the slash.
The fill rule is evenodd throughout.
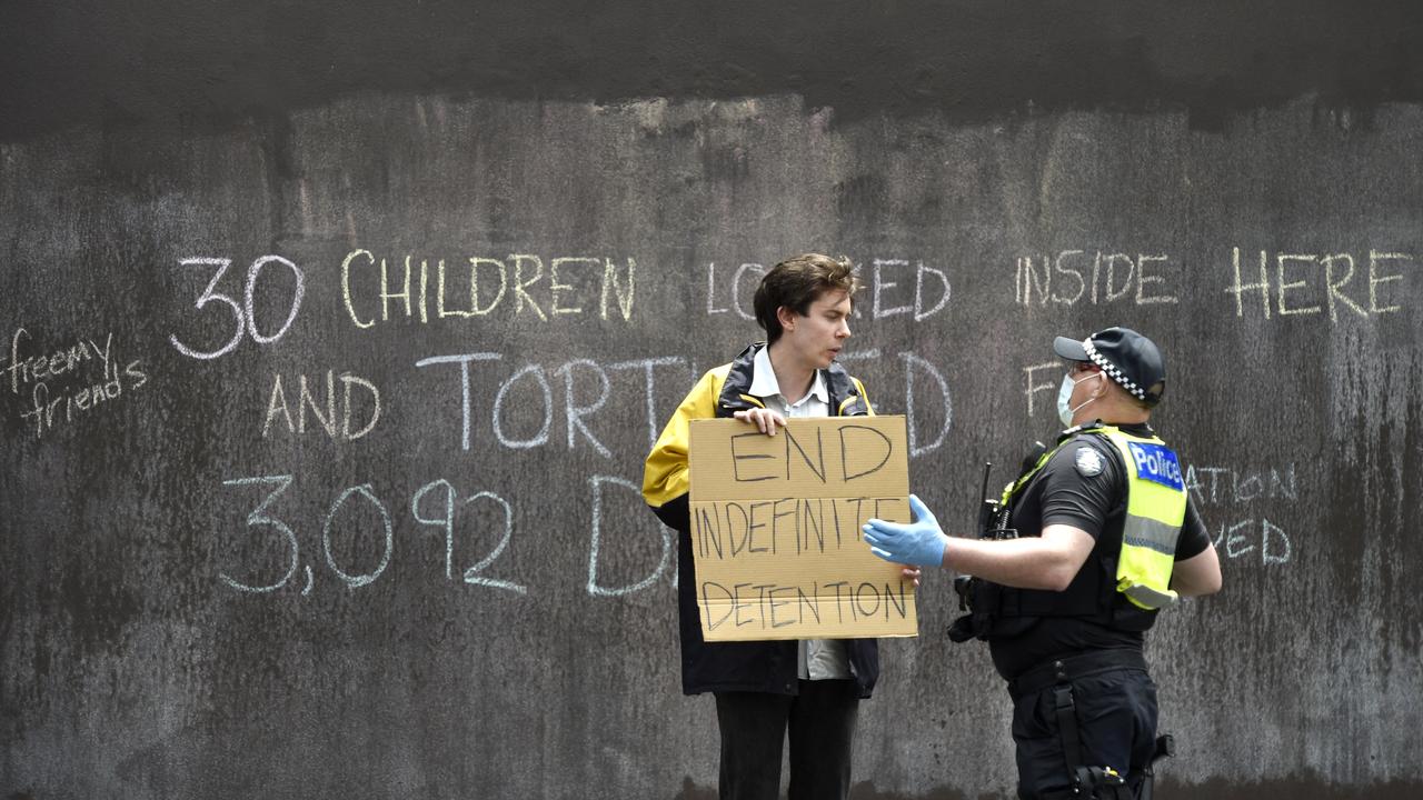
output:
<path id="1" fill-rule="evenodd" d="M 1117 427 L 1151 436 L 1146 424 Z M 1094 454 L 1079 456 L 1083 448 Z M 1063 592 L 979 582 L 972 618 L 955 623 L 955 639 L 988 639 L 993 666 L 1009 680 L 1019 797 L 1073 797 L 1072 767 L 1110 766 L 1130 786 L 1150 766 L 1157 699 L 1141 651 L 1155 612 L 1133 606 L 1114 588 L 1127 481 L 1120 453 L 1101 436 L 1079 433 L 1062 446 L 1015 495 L 1007 527 L 1020 535 L 1053 524 L 1080 528 L 1096 540 L 1091 555 Z M 1188 497 L 1175 559 L 1210 544 Z M 1059 725 L 1059 689 L 1067 685 L 1080 764 L 1067 763 Z"/>

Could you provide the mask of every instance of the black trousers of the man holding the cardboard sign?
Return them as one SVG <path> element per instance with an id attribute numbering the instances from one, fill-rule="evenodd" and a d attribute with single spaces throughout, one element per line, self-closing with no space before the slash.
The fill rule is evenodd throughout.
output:
<path id="1" fill-rule="evenodd" d="M 776 800 L 790 733 L 790 800 L 850 797 L 859 689 L 854 680 L 801 680 L 800 695 L 717 692 L 721 800 Z"/>

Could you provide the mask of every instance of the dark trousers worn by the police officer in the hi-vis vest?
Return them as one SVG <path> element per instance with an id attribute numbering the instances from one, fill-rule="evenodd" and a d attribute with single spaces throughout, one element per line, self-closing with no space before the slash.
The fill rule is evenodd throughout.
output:
<path id="1" fill-rule="evenodd" d="M 1134 794 L 1155 747 L 1155 683 L 1146 670 L 1130 668 L 1097 672 L 1070 683 L 1081 766 L 1117 770 Z M 1022 800 L 1072 797 L 1053 690 L 1047 686 L 1013 698 L 1017 796 Z"/>

